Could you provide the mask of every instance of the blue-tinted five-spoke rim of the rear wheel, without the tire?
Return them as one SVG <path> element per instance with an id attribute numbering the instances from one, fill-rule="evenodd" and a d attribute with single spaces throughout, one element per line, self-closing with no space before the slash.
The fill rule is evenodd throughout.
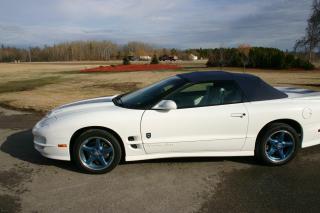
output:
<path id="1" fill-rule="evenodd" d="M 294 153 L 295 143 L 295 138 L 289 131 L 276 131 L 267 139 L 266 156 L 275 163 L 285 161 Z"/>

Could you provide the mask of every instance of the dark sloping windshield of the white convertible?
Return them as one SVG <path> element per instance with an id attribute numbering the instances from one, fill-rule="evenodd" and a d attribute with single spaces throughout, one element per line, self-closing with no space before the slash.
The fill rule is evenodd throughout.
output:
<path id="1" fill-rule="evenodd" d="M 132 93 L 119 95 L 113 102 L 130 109 L 148 109 L 158 103 L 161 98 L 185 84 L 185 80 L 174 76 L 152 84 Z"/>

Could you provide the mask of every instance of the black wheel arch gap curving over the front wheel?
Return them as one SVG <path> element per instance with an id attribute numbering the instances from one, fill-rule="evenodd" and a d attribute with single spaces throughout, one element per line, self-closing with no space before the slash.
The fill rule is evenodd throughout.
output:
<path id="1" fill-rule="evenodd" d="M 125 156 L 126 156 L 126 150 L 125 150 L 125 147 L 124 147 L 124 143 L 120 137 L 120 135 L 110 129 L 110 128 L 107 128 L 107 127 L 103 127 L 103 126 L 88 126 L 88 127 L 83 127 L 81 129 L 78 129 L 77 131 L 75 131 L 73 133 L 73 135 L 71 136 L 70 138 L 70 145 L 69 145 L 69 153 L 70 153 L 70 157 L 71 159 L 73 158 L 72 156 L 72 149 L 73 149 L 73 146 L 74 146 L 74 143 L 76 141 L 76 139 L 85 131 L 87 130 L 90 130 L 90 129 L 99 129 L 99 130 L 104 130 L 104 131 L 107 131 L 109 132 L 110 134 L 112 134 L 115 138 L 118 139 L 119 143 L 120 143 L 120 146 L 121 146 L 121 161 L 123 161 L 125 159 Z"/>

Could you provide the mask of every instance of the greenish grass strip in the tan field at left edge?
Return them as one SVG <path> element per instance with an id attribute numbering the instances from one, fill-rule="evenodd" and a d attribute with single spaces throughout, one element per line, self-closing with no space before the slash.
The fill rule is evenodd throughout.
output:
<path id="1" fill-rule="evenodd" d="M 0 84 L 0 93 L 30 91 L 48 84 L 55 84 L 61 80 L 59 76 L 49 76 L 28 80 L 8 81 Z"/>

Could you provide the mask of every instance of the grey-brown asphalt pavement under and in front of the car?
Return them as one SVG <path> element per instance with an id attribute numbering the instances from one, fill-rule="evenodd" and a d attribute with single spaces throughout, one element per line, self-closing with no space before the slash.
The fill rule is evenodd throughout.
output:
<path id="1" fill-rule="evenodd" d="M 0 212 L 319 212 L 320 147 L 282 167 L 253 158 L 124 163 L 109 174 L 43 158 L 40 115 L 0 108 Z"/>

